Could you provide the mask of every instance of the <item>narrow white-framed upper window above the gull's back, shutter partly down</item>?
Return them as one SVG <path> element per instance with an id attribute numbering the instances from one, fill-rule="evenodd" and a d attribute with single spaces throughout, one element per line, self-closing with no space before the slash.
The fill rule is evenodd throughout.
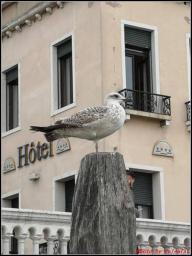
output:
<path id="1" fill-rule="evenodd" d="M 51 43 L 51 116 L 75 107 L 74 32 Z"/>

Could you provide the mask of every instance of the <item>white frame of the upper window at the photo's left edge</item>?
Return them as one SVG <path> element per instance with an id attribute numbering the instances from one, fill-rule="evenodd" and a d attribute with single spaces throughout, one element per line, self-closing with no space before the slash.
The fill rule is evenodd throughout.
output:
<path id="1" fill-rule="evenodd" d="M 18 67 L 18 126 L 9 131 L 6 131 L 6 73 L 11 70 L 14 66 Z M 20 61 L 16 61 L 10 66 L 4 67 L 1 73 L 2 77 L 2 137 L 9 134 L 13 134 L 16 131 L 21 130 L 21 82 L 20 82 Z"/>

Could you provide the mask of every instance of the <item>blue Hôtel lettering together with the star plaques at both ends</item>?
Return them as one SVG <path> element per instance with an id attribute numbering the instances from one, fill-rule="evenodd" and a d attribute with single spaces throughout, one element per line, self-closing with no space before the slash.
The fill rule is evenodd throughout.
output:
<path id="1" fill-rule="evenodd" d="M 47 157 L 53 157 L 53 143 L 43 143 L 40 145 L 40 141 L 35 146 L 34 142 L 31 142 L 29 149 L 29 144 L 18 147 L 18 166 L 21 168 L 23 166 L 28 166 L 30 163 L 35 163 L 36 160 L 46 159 Z M 56 145 L 56 154 L 62 153 L 71 149 L 68 138 L 62 138 L 58 140 Z M 22 164 L 22 160 L 24 164 Z M 15 163 L 13 157 L 7 157 L 3 166 L 3 172 L 8 172 L 15 169 Z"/>

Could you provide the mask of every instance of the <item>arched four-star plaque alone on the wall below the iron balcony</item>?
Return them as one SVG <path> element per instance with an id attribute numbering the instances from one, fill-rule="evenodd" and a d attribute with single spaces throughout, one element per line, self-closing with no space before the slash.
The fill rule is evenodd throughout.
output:
<path id="1" fill-rule="evenodd" d="M 166 140 L 158 140 L 155 143 L 153 154 L 158 154 L 158 155 L 167 156 L 167 157 L 174 157 L 172 147 Z"/>

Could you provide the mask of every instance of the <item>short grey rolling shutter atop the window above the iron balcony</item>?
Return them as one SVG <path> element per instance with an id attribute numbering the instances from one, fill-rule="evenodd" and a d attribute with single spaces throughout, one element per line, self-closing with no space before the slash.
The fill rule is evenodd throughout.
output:
<path id="1" fill-rule="evenodd" d="M 130 44 L 143 48 L 151 48 L 151 32 L 141 29 L 124 27 L 125 44 Z"/>

